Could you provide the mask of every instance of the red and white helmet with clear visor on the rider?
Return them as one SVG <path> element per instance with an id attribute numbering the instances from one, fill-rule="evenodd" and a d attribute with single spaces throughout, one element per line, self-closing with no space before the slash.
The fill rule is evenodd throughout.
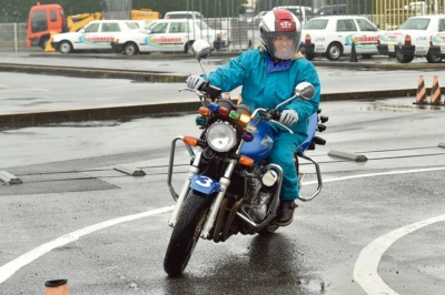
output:
<path id="1" fill-rule="evenodd" d="M 286 9 L 274 9 L 267 12 L 259 26 L 259 40 L 264 51 L 268 52 L 271 57 L 280 60 L 288 60 L 293 58 L 299 48 L 301 38 L 301 24 L 297 17 Z M 274 48 L 274 40 L 278 35 L 286 35 L 291 39 L 293 45 L 285 55 L 277 53 Z"/>

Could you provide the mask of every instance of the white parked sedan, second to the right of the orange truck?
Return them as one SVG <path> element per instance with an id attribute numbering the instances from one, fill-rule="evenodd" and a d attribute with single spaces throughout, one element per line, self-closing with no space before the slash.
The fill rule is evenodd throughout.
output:
<path id="1" fill-rule="evenodd" d="M 191 44 L 198 39 L 207 40 L 217 49 L 228 45 L 227 30 L 214 30 L 202 20 L 156 20 L 145 32 L 127 33 L 111 47 L 115 52 L 131 55 L 159 51 L 191 53 Z"/>

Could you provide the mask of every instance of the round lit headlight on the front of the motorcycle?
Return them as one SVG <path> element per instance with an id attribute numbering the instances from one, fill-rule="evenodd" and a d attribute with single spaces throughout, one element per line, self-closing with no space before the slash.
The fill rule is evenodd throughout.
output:
<path id="1" fill-rule="evenodd" d="M 236 130 L 228 123 L 217 122 L 207 130 L 207 143 L 216 152 L 227 152 L 236 142 Z"/>

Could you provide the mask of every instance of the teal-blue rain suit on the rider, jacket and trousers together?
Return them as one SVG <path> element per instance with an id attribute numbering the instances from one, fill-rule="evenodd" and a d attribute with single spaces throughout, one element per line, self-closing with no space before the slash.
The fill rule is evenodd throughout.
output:
<path id="1" fill-rule="evenodd" d="M 293 155 L 298 145 L 307 138 L 307 119 L 318 110 L 320 101 L 320 83 L 314 65 L 306 59 L 279 61 L 274 64 L 273 59 L 258 49 L 249 50 L 234 58 L 230 62 L 209 74 L 209 82 L 230 92 L 243 85 L 243 103 L 253 111 L 257 108 L 274 109 L 280 102 L 290 98 L 295 87 L 300 82 L 309 82 L 315 88 L 312 100 L 296 99 L 279 110 L 294 110 L 298 113 L 298 122 L 289 126 L 288 131 L 279 132 L 283 128 L 270 123 L 278 133 L 274 150 L 269 156 L 271 163 L 278 164 L 284 171 L 280 200 L 298 199 L 298 176 Z M 283 129 L 284 130 L 284 129 Z"/>

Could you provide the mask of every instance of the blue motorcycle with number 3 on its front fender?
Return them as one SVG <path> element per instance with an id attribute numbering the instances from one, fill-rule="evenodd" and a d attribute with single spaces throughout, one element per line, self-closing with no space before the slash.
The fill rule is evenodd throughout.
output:
<path id="1" fill-rule="evenodd" d="M 207 41 L 197 40 L 194 45 L 196 58 L 207 77 L 201 60 L 210 54 Z M 171 142 L 167 183 L 176 201 L 168 221 L 174 227 L 164 261 L 166 273 L 179 276 L 185 271 L 194 248 L 199 240 L 225 242 L 234 234 L 269 234 L 279 226 L 275 216 L 279 205 L 283 170 L 268 163 L 267 157 L 274 146 L 274 133 L 269 124 L 280 124 L 278 109 L 295 99 L 310 100 L 314 87 L 308 82 L 299 83 L 295 94 L 275 109 L 249 110 L 221 95 L 221 90 L 206 84 L 204 90 L 181 89 L 195 92 L 201 101 L 197 125 L 202 130 L 200 138 L 177 136 Z M 326 141 L 315 133 L 326 129 L 328 118 L 320 110 L 308 120 L 308 138 L 295 153 L 298 157 L 315 165 L 317 189 L 309 196 L 299 196 L 300 201 L 310 201 L 323 187 L 318 163 L 305 154 L 316 144 Z M 176 144 L 182 141 L 190 155 L 188 175 L 179 194 L 171 180 L 176 154 Z M 299 185 L 301 185 L 299 177 Z"/>

